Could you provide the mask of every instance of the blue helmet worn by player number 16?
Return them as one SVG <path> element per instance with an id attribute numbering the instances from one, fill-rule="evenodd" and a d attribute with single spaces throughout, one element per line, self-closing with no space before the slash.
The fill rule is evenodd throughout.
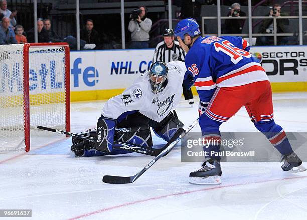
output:
<path id="1" fill-rule="evenodd" d="M 175 37 L 180 37 L 182 41 L 185 39 L 185 34 L 190 35 L 192 38 L 194 36 L 200 35 L 199 25 L 192 19 L 184 19 L 178 22 L 174 30 Z"/>

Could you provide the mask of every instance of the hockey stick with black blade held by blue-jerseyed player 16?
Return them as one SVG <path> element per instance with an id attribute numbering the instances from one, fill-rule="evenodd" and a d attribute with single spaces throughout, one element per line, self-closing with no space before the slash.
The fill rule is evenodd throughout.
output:
<path id="1" fill-rule="evenodd" d="M 134 182 L 138 177 L 140 177 L 147 169 L 149 169 L 150 166 L 152 166 L 154 163 L 156 163 L 161 157 L 163 157 L 165 154 L 170 152 L 176 144 L 192 129 L 198 124 L 199 118 L 194 121 L 188 128 L 187 130 L 184 130 L 183 128 L 180 128 L 183 130 L 183 134 L 181 137 L 173 141 L 167 148 L 165 148 L 158 156 L 156 156 L 153 160 L 151 160 L 144 168 L 142 168 L 137 174 L 134 176 L 109 176 L 105 175 L 102 178 L 102 181 L 105 183 L 110 183 L 110 184 L 126 184 L 126 183 L 132 183 Z M 175 135 L 174 135 L 175 136 Z"/>

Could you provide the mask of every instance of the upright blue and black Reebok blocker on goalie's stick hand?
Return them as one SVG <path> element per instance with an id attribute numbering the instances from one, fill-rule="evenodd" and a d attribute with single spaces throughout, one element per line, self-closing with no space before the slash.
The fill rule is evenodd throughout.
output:
<path id="1" fill-rule="evenodd" d="M 94 140 L 94 148 L 96 150 L 111 153 L 116 120 L 111 118 L 100 117 L 97 122 L 97 133 Z"/>

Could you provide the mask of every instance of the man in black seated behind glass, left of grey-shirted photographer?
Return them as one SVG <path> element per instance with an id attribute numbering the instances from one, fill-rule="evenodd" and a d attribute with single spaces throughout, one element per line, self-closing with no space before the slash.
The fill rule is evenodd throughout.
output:
<path id="1" fill-rule="evenodd" d="M 80 39 L 84 40 L 86 44 L 95 44 L 96 48 L 100 46 L 99 34 L 94 29 L 93 20 L 86 20 L 85 28 L 80 32 Z"/>

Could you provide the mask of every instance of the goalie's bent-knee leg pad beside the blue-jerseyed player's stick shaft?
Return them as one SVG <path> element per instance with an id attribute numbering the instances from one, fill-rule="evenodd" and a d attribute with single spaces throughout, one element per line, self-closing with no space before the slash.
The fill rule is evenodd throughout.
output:
<path id="1" fill-rule="evenodd" d="M 165 126 L 161 128 L 152 128 L 152 130 L 158 137 L 161 137 L 165 141 L 169 141 L 176 131 L 183 126 L 184 124 L 173 115 Z"/>

